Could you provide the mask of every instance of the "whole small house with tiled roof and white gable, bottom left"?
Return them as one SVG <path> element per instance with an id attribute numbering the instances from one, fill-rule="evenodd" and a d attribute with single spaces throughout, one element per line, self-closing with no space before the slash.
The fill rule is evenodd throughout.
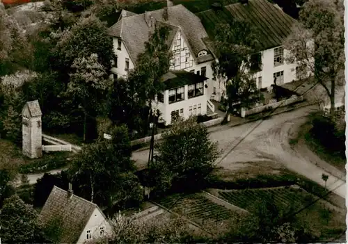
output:
<path id="1" fill-rule="evenodd" d="M 90 243 L 111 231 L 111 225 L 93 202 L 54 186 L 39 215 L 55 243 Z"/>

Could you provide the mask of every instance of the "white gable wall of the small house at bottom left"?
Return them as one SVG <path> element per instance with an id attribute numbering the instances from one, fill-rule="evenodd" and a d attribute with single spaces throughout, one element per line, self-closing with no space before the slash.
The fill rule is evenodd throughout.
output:
<path id="1" fill-rule="evenodd" d="M 92 215 L 90 216 L 90 220 L 88 220 L 87 225 L 84 231 L 82 231 L 81 236 L 79 237 L 79 241 L 77 241 L 77 243 L 88 243 L 90 241 L 93 241 L 93 239 L 95 240 L 95 238 L 99 238 L 100 227 L 102 226 L 104 226 L 105 228 L 105 234 L 106 232 L 111 231 L 111 225 L 109 224 L 109 222 L 105 220 L 104 215 L 102 215 L 100 210 L 95 208 Z M 86 235 L 88 230 L 90 230 L 90 232 L 92 233 L 93 239 L 87 241 Z"/>

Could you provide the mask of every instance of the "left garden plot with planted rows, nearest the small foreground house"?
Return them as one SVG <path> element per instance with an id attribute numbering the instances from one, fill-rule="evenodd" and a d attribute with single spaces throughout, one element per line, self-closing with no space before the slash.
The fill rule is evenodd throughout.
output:
<path id="1" fill-rule="evenodd" d="M 226 225 L 227 222 L 239 216 L 239 213 L 208 200 L 200 193 L 174 194 L 159 200 L 158 203 L 203 227 L 212 224 Z"/>

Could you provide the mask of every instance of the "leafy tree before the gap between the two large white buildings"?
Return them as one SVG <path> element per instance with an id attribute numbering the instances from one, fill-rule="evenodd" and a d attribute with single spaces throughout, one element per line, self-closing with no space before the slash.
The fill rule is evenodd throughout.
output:
<path id="1" fill-rule="evenodd" d="M 212 68 L 214 77 L 226 88 L 225 120 L 236 102 L 248 107 L 259 99 L 253 75 L 261 68 L 261 55 L 255 33 L 248 22 L 235 19 L 216 26 L 213 47 L 218 60 Z"/>

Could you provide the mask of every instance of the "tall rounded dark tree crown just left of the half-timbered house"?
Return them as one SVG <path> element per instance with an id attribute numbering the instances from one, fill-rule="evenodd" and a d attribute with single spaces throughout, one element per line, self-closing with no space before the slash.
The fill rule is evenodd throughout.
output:
<path id="1" fill-rule="evenodd" d="M 68 82 L 66 74 L 72 73 L 74 60 L 92 54 L 97 54 L 98 62 L 108 74 L 113 60 L 113 44 L 105 24 L 95 16 L 82 18 L 70 30 L 63 32 L 54 49 L 52 67 L 61 73 L 63 81 Z"/>

